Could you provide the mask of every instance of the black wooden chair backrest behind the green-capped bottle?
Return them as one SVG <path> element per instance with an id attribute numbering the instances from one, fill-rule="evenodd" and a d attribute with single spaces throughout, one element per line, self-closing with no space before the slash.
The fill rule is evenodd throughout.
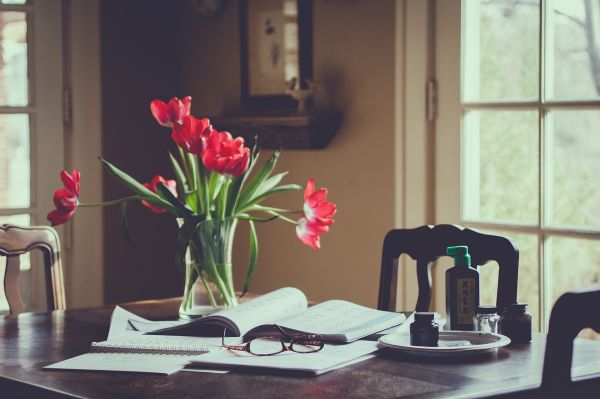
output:
<path id="1" fill-rule="evenodd" d="M 517 302 L 519 249 L 509 238 L 484 234 L 457 225 L 440 224 L 414 229 L 391 230 L 383 241 L 378 308 L 396 310 L 398 258 L 409 255 L 417 262 L 419 296 L 415 310 L 426 312 L 431 302 L 431 263 L 446 255 L 446 248 L 467 245 L 473 265 L 498 262 L 498 293 L 496 304 L 506 306 Z"/>

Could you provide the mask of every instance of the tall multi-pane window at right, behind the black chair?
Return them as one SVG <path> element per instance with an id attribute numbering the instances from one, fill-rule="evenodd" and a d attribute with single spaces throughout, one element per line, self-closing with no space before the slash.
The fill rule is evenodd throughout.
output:
<path id="1" fill-rule="evenodd" d="M 461 222 L 516 241 L 544 330 L 563 292 L 600 282 L 600 4 L 463 0 L 461 29 Z"/>

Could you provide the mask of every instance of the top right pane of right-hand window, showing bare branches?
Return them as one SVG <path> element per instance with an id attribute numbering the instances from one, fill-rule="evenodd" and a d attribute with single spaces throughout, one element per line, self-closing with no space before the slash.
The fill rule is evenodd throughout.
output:
<path id="1" fill-rule="evenodd" d="M 600 96 L 600 4 L 554 0 L 548 14 L 547 94 L 553 98 Z"/>

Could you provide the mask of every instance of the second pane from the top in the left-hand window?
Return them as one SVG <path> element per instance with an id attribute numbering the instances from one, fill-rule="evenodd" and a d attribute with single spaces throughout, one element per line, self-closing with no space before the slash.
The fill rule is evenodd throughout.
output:
<path id="1" fill-rule="evenodd" d="M 0 208 L 31 203 L 29 117 L 0 115 Z"/>

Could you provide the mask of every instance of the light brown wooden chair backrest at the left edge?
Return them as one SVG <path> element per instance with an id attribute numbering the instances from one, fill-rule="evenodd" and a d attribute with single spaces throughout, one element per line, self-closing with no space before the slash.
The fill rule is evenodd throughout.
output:
<path id="1" fill-rule="evenodd" d="M 65 290 L 60 241 L 56 230 L 49 226 L 20 227 L 0 225 L 0 255 L 6 256 L 4 292 L 10 314 L 25 310 L 19 291 L 20 255 L 40 249 L 44 258 L 44 277 L 48 310 L 65 308 Z"/>

